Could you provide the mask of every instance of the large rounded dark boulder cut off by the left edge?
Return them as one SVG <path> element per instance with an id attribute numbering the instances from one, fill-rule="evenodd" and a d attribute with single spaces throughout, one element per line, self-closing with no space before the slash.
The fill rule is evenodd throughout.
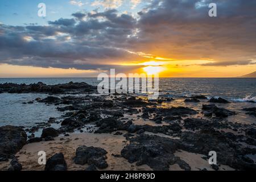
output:
<path id="1" fill-rule="evenodd" d="M 26 144 L 26 132 L 16 126 L 0 127 L 0 161 L 6 161 Z"/>

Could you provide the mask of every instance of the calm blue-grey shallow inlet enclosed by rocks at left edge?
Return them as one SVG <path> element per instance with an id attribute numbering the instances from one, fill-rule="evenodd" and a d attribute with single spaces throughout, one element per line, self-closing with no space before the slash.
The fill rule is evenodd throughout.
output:
<path id="1" fill-rule="evenodd" d="M 0 126 L 35 126 L 35 123 L 47 122 L 50 117 L 60 118 L 63 114 L 54 105 L 35 101 L 35 98 L 47 97 L 47 94 L 0 94 Z M 34 101 L 34 104 L 23 102 Z"/>

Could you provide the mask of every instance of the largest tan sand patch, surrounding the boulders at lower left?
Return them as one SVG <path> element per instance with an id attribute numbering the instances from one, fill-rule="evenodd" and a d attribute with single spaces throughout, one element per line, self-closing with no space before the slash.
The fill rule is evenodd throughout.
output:
<path id="1" fill-rule="evenodd" d="M 76 148 L 85 145 L 88 147 L 101 147 L 108 151 L 108 154 L 106 154 L 108 157 L 106 162 L 109 164 L 109 167 L 104 170 L 151 170 L 147 165 L 136 166 L 135 163 L 130 164 L 124 158 L 112 156 L 112 154 L 120 154 L 123 147 L 127 144 L 129 144 L 129 141 L 126 141 L 122 135 L 92 133 L 72 134 L 69 137 L 57 137 L 53 141 L 26 144 L 23 146 L 22 150 L 16 154 L 16 157 L 19 163 L 22 164 L 23 170 L 38 171 L 44 170 L 44 165 L 38 164 L 39 151 L 45 151 L 47 158 L 62 152 L 67 162 L 68 170 L 84 170 L 88 165 L 77 165 L 73 162 L 73 158 L 75 157 Z M 9 163 L 10 162 L 0 162 L 0 170 L 6 170 Z"/>

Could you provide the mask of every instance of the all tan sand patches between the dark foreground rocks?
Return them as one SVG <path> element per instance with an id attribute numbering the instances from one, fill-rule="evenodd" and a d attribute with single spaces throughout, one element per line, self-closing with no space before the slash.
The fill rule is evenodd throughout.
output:
<path id="1" fill-rule="evenodd" d="M 122 131 L 126 133 L 126 131 Z M 19 160 L 19 163 L 22 164 L 23 170 L 25 171 L 42 171 L 44 170 L 44 165 L 38 164 L 38 152 L 45 151 L 47 159 L 52 155 L 62 152 L 64 158 L 67 162 L 68 170 L 70 171 L 82 171 L 88 167 L 88 164 L 81 166 L 73 162 L 75 157 L 76 148 L 79 146 L 93 146 L 104 148 L 108 154 L 106 162 L 109 164 L 109 167 L 104 169 L 106 171 L 151 171 L 152 169 L 147 165 L 136 166 L 135 163 L 129 163 L 125 158 L 117 158 L 114 155 L 120 154 L 123 147 L 129 144 L 129 140 L 126 140 L 122 135 L 113 135 L 112 134 L 92 134 L 92 133 L 81 133 L 81 134 L 71 134 L 68 137 L 56 137 L 53 141 L 48 142 L 38 142 L 30 143 L 23 146 L 16 157 Z M 158 135 L 160 137 L 172 138 L 164 134 L 153 134 L 147 132 L 148 135 Z M 176 138 L 173 138 L 176 139 Z M 186 163 L 191 166 L 192 171 L 199 171 L 201 169 L 207 169 L 208 171 L 213 171 L 210 167 L 207 160 L 203 159 L 204 155 L 189 153 L 186 151 L 176 151 L 175 156 L 180 157 Z M 0 162 L 0 170 L 7 170 L 9 167 L 9 162 Z M 234 170 L 229 166 L 220 166 L 221 171 Z M 183 171 L 179 165 L 174 164 L 170 166 L 170 171 Z"/>

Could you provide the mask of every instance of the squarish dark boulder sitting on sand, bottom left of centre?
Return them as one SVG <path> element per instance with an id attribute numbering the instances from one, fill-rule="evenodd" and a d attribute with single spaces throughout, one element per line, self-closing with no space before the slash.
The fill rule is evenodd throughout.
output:
<path id="1" fill-rule="evenodd" d="M 74 161 L 76 164 L 84 165 L 88 163 L 104 169 L 108 167 L 108 163 L 105 160 L 107 153 L 103 148 L 80 146 L 76 149 Z"/>

